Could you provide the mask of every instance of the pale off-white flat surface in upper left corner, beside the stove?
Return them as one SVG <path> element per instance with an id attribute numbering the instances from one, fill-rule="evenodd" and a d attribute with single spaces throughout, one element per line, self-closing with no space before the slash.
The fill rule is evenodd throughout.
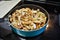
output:
<path id="1" fill-rule="evenodd" d="M 3 18 L 21 0 L 0 1 L 0 18 Z"/>

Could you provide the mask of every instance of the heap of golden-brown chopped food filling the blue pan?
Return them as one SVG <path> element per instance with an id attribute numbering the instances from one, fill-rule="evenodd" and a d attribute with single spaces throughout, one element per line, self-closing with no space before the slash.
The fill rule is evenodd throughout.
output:
<path id="1" fill-rule="evenodd" d="M 11 24 L 21 30 L 36 30 L 44 26 L 46 15 L 39 9 L 22 8 L 10 15 Z"/>

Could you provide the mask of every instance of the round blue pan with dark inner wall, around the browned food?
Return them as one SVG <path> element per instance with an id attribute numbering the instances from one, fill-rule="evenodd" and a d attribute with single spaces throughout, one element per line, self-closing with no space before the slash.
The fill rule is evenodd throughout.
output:
<path id="1" fill-rule="evenodd" d="M 13 12 L 15 12 L 17 9 L 21 9 L 21 8 L 30 8 L 30 9 L 34 9 L 34 10 L 37 10 L 37 9 L 40 9 L 41 12 L 43 12 L 46 16 L 47 16 L 47 19 L 46 19 L 46 23 L 45 25 L 42 27 L 42 28 L 39 28 L 37 30 L 32 30 L 32 31 L 23 31 L 21 29 L 18 29 L 18 28 L 15 28 L 9 21 L 9 15 L 11 15 Z M 16 33 L 17 35 L 20 35 L 20 36 L 23 36 L 23 37 L 34 37 L 34 36 L 37 36 L 37 35 L 40 35 L 42 32 L 45 31 L 46 29 L 46 26 L 48 24 L 48 18 L 49 18 L 49 15 L 48 15 L 48 12 L 42 8 L 41 6 L 38 6 L 38 5 L 34 5 L 34 4 L 22 4 L 20 6 L 17 6 L 15 7 L 8 15 L 8 22 L 10 24 L 10 27 L 12 29 L 12 31 L 14 33 Z"/>

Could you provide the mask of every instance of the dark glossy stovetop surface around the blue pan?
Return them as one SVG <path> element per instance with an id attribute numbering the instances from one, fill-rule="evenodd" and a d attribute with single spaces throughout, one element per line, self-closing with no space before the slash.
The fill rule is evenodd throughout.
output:
<path id="1" fill-rule="evenodd" d="M 21 4 L 27 4 L 27 3 L 42 6 L 48 11 L 50 19 L 46 30 L 42 34 L 35 37 L 22 37 L 12 32 L 7 21 L 2 21 L 0 22 L 0 40 L 59 40 L 60 39 L 59 37 L 60 35 L 59 7 L 60 6 L 56 6 L 54 4 L 52 5 L 52 4 L 40 3 L 40 2 L 31 2 L 31 1 L 20 2 L 16 6 L 20 6 Z"/>

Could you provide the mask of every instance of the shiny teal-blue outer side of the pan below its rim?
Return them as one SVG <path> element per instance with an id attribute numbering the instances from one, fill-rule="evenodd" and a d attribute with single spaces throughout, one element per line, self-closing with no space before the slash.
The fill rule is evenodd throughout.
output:
<path id="1" fill-rule="evenodd" d="M 11 26 L 11 28 L 12 28 L 12 31 L 14 31 L 16 34 L 18 34 L 20 36 L 23 36 L 23 37 L 34 37 L 34 36 L 37 36 L 37 35 L 41 34 L 42 32 L 44 32 L 45 29 L 46 29 L 46 26 L 47 26 L 47 24 L 45 24 L 44 27 L 42 27 L 42 28 L 40 28 L 38 30 L 33 30 L 33 31 L 22 31 L 22 30 L 14 28 L 12 26 Z"/>

